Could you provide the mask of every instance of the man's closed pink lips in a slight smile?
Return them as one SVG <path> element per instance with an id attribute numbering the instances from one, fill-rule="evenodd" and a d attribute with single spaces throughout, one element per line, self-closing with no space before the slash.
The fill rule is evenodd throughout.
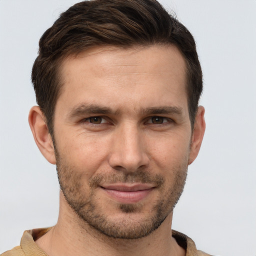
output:
<path id="1" fill-rule="evenodd" d="M 112 199 L 120 203 L 136 203 L 144 199 L 153 189 L 150 184 L 107 184 L 100 186 Z"/>

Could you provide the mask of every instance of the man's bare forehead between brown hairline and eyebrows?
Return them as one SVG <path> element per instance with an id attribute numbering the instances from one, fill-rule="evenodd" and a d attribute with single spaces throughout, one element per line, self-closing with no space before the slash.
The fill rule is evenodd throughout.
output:
<path id="1" fill-rule="evenodd" d="M 184 103 L 185 70 L 185 60 L 173 45 L 94 47 L 62 61 L 57 104 L 91 101 L 136 108 Z"/>

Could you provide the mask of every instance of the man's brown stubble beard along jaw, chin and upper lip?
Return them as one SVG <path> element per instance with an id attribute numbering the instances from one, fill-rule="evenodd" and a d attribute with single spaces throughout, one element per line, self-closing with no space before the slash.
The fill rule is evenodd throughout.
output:
<path id="1" fill-rule="evenodd" d="M 87 229 L 99 231 L 112 238 L 137 239 L 142 238 L 157 229 L 177 203 L 185 184 L 187 164 L 182 164 L 173 173 L 173 183 L 167 189 L 165 179 L 159 174 L 151 174 L 150 171 L 138 169 L 134 172 L 122 172 L 117 174 L 95 174 L 89 179 L 89 190 L 84 192 L 82 175 L 84 172 L 76 171 L 65 163 L 55 147 L 56 169 L 61 191 L 73 211 L 79 217 L 80 225 Z M 84 170 L 86 171 L 86 170 Z M 104 212 L 102 205 L 98 204 L 95 195 L 100 182 L 141 182 L 153 183 L 159 189 L 159 196 L 152 204 L 150 214 L 147 217 L 137 218 L 135 215 L 143 211 L 142 203 L 123 204 L 116 203 L 116 211 L 122 217 L 113 218 Z M 111 218 L 112 217 L 112 218 Z"/>

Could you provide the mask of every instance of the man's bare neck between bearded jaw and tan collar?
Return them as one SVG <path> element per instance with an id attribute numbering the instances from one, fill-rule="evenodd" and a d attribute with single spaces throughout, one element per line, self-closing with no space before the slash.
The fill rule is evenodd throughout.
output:
<path id="1" fill-rule="evenodd" d="M 60 195 L 57 224 L 36 240 L 49 256 L 71 255 L 185 255 L 171 237 L 172 212 L 149 235 L 138 239 L 108 237 L 84 223 Z M 82 222 L 82 223 L 81 223 Z"/>

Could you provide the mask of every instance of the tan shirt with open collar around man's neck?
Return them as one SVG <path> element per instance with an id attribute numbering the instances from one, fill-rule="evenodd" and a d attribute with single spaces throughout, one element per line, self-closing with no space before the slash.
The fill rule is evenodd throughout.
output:
<path id="1" fill-rule="evenodd" d="M 50 227 L 24 231 L 20 246 L 7 250 L 0 254 L 0 256 L 47 256 L 34 241 L 44 235 L 49 229 Z M 172 230 L 172 237 L 175 238 L 179 246 L 186 250 L 185 256 L 210 256 L 201 250 L 197 250 L 193 240 L 185 234 Z"/>

